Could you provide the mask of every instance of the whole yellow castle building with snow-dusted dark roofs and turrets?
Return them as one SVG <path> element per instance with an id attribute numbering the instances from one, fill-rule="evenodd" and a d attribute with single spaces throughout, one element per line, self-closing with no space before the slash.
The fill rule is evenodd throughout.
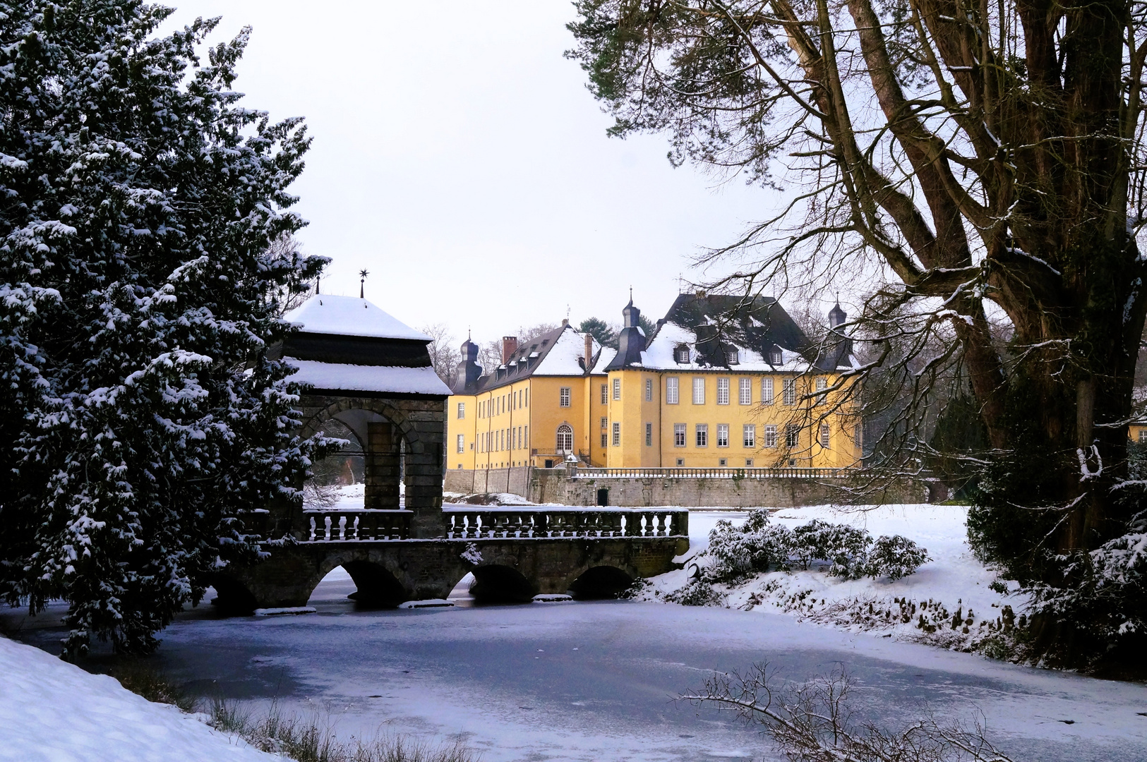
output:
<path id="1" fill-rule="evenodd" d="M 617 349 L 563 321 L 486 372 L 462 345 L 447 466 L 849 468 L 863 426 L 851 341 L 814 345 L 772 298 L 680 294 L 653 336 L 632 300 Z"/>

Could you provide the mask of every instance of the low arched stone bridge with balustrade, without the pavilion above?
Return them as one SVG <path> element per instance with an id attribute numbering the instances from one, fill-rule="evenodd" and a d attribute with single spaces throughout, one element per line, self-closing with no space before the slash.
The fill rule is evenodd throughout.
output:
<path id="1" fill-rule="evenodd" d="M 268 559 L 220 574 L 218 605 L 232 613 L 305 606 L 342 566 L 360 605 L 445 598 L 468 573 L 475 598 L 528 602 L 570 592 L 611 597 L 662 574 L 688 550 L 688 512 L 639 509 L 447 508 L 443 536 L 411 539 L 407 510 L 305 511 L 302 540 Z"/>

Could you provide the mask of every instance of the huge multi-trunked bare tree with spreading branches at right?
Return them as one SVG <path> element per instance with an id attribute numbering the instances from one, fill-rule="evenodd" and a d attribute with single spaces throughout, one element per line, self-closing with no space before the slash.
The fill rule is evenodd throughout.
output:
<path id="1" fill-rule="evenodd" d="M 1085 565 L 1063 559 L 1138 510 L 1118 486 L 1147 311 L 1147 6 L 576 7 L 569 55 L 612 134 L 666 132 L 671 160 L 778 189 L 785 174 L 781 207 L 703 259 L 734 268 L 713 285 L 872 283 L 858 333 L 903 351 L 871 352 L 855 377 L 898 378 L 912 423 L 933 382 L 962 376 L 990 446 L 974 539 L 1025 583 L 1075 584 Z M 1037 616 L 1037 653 L 1078 663 L 1107 647 L 1061 614 Z"/>

